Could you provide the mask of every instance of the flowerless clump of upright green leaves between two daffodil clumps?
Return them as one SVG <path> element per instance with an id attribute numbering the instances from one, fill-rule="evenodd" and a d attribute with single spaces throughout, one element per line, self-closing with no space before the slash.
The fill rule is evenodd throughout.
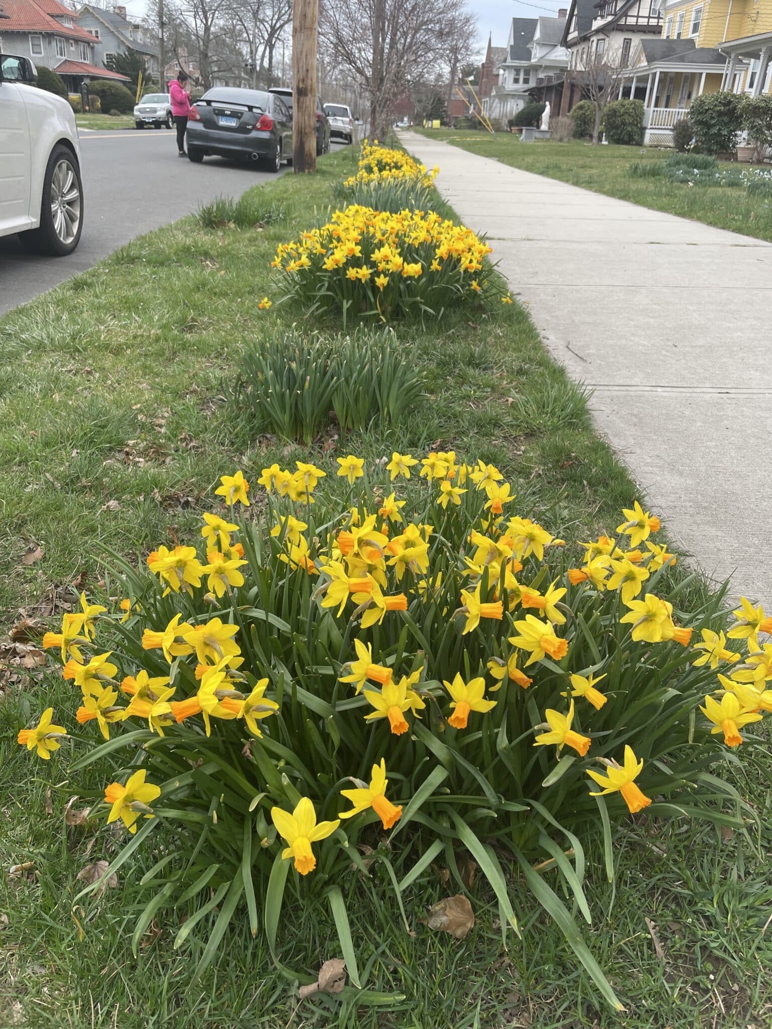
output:
<path id="1" fill-rule="evenodd" d="M 249 344 L 237 362 L 234 399 L 258 431 L 310 443 L 329 423 L 344 432 L 373 421 L 398 424 L 423 396 L 410 348 L 390 328 L 360 325 L 350 336 L 283 335 Z"/>

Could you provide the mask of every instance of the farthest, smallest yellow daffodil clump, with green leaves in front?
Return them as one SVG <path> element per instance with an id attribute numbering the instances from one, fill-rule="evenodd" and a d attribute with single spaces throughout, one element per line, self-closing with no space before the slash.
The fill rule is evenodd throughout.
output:
<path id="1" fill-rule="evenodd" d="M 434 177 L 440 171 L 426 171 L 405 150 L 371 145 L 364 142 L 359 170 L 336 188 L 336 197 L 347 204 L 358 204 L 374 211 L 425 211 L 436 205 Z"/>

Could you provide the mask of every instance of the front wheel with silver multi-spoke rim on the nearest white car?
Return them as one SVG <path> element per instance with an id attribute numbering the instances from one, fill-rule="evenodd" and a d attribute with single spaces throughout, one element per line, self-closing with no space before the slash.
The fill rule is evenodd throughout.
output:
<path id="1" fill-rule="evenodd" d="M 83 184 L 72 150 L 57 144 L 43 176 L 40 225 L 19 238 L 29 250 L 66 257 L 80 242 L 83 228 Z"/>

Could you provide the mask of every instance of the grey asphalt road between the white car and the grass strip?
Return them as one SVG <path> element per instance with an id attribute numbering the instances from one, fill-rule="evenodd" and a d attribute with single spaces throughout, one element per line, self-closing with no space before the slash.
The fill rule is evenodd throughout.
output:
<path id="1" fill-rule="evenodd" d="M 177 156 L 174 132 L 167 130 L 86 132 L 80 153 L 85 219 L 80 243 L 69 257 L 38 257 L 27 254 L 15 236 L 0 239 L 0 315 L 202 203 L 240 197 L 255 182 L 276 178 L 253 164 L 220 157 L 192 165 Z"/>

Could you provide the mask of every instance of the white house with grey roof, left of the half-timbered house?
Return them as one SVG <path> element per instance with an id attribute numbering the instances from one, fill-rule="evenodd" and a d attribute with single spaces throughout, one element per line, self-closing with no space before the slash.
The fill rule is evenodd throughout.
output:
<path id="1" fill-rule="evenodd" d="M 517 114 L 533 99 L 531 91 L 537 84 L 562 82 L 568 67 L 568 51 L 562 44 L 565 25 L 565 9 L 559 10 L 557 17 L 512 20 L 498 82 L 483 100 L 483 109 L 491 119 L 505 120 Z"/>

